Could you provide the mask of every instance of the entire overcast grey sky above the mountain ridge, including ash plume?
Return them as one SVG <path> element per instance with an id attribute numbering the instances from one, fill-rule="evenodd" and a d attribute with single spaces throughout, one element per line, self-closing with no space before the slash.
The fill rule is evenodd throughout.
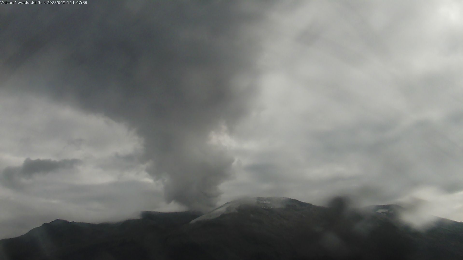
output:
<path id="1" fill-rule="evenodd" d="M 463 221 L 461 1 L 0 12 L 2 238 L 244 196 Z"/>

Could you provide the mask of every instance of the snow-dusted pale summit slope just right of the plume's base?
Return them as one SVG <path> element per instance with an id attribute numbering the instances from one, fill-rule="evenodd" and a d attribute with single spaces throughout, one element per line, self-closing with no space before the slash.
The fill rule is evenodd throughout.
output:
<path id="1" fill-rule="evenodd" d="M 220 207 L 216 208 L 215 210 L 212 210 L 198 218 L 195 218 L 190 223 L 206 219 L 213 219 L 223 214 L 228 214 L 231 212 L 237 212 L 238 207 L 242 205 L 255 206 L 260 208 L 284 208 L 292 200 L 293 199 L 291 198 L 283 197 L 240 198 L 227 202 L 221 205 Z"/>

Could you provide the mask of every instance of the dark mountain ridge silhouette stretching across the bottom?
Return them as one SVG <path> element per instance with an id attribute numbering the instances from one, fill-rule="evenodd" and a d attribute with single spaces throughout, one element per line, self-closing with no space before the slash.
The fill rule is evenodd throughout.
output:
<path id="1" fill-rule="evenodd" d="M 2 260 L 463 259 L 463 223 L 439 219 L 416 230 L 398 205 L 350 209 L 290 198 L 235 200 L 199 212 L 144 211 L 120 223 L 55 220 L 1 240 Z"/>

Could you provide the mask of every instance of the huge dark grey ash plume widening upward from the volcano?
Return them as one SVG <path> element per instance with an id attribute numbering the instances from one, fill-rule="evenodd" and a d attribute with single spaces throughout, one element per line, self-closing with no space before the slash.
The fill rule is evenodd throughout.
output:
<path id="1" fill-rule="evenodd" d="M 222 125 L 233 130 L 250 107 L 252 26 L 268 6 L 2 6 L 2 90 L 43 94 L 128 124 L 144 139 L 142 161 L 152 160 L 166 199 L 204 210 L 215 205 L 233 162 L 208 136 Z"/>

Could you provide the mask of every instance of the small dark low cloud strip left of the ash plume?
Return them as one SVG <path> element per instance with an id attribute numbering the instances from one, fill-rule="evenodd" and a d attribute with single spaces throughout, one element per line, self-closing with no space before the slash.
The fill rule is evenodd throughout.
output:
<path id="1" fill-rule="evenodd" d="M 30 179 L 34 175 L 57 172 L 70 169 L 81 163 L 78 159 L 50 160 L 26 158 L 22 166 L 6 167 L 1 171 L 1 183 L 3 186 L 20 187 L 22 179 Z"/>

